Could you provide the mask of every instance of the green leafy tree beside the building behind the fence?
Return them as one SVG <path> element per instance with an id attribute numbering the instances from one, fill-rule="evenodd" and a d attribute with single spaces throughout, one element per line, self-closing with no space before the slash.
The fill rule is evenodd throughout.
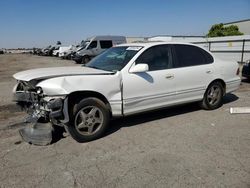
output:
<path id="1" fill-rule="evenodd" d="M 235 35 L 243 35 L 239 31 L 237 25 L 224 26 L 222 23 L 215 24 L 209 30 L 207 37 L 223 37 L 223 36 L 235 36 Z"/>

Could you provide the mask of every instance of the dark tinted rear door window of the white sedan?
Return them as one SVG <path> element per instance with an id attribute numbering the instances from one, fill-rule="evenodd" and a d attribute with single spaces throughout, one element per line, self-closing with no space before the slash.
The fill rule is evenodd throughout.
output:
<path id="1" fill-rule="evenodd" d="M 205 65 L 213 62 L 213 57 L 205 50 L 184 44 L 175 44 L 175 67 Z"/>

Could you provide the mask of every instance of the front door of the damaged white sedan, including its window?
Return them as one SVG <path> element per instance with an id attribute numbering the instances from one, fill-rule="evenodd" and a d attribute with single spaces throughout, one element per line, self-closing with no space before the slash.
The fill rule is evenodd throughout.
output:
<path id="1" fill-rule="evenodd" d="M 169 45 L 158 45 L 145 50 L 134 65 L 140 63 L 148 64 L 149 70 L 123 75 L 125 115 L 166 106 L 175 95 Z"/>

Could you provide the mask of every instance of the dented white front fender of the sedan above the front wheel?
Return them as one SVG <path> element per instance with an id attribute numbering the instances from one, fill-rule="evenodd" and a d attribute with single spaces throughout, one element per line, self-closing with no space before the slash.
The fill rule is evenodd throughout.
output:
<path id="1" fill-rule="evenodd" d="M 122 76 L 115 74 L 74 75 L 55 77 L 37 84 L 45 95 L 68 95 L 77 91 L 101 93 L 107 100 L 121 101 Z"/>

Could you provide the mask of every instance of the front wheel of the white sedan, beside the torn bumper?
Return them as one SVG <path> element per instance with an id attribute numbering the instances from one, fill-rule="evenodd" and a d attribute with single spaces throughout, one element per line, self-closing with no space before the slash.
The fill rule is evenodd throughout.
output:
<path id="1" fill-rule="evenodd" d="M 101 100 L 85 98 L 74 106 L 67 131 L 77 142 L 100 138 L 109 124 L 109 114 Z"/>

